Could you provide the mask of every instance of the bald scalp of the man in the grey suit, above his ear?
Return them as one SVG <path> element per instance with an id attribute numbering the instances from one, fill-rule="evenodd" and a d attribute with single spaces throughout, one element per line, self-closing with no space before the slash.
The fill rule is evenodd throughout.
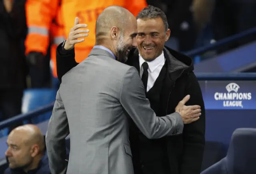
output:
<path id="1" fill-rule="evenodd" d="M 122 32 L 131 20 L 136 20 L 131 12 L 120 6 L 109 6 L 103 10 L 96 21 L 96 40 L 106 36 L 114 26 Z"/>

